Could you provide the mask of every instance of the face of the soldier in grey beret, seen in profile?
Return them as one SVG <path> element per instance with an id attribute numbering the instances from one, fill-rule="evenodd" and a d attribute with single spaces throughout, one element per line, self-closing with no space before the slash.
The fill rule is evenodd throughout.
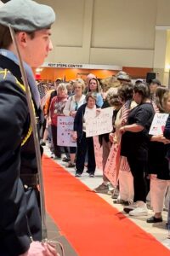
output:
<path id="1" fill-rule="evenodd" d="M 25 42 L 22 44 L 24 46 L 24 60 L 31 67 L 41 66 L 48 56 L 49 51 L 53 49 L 50 36 L 50 29 L 42 29 L 34 32 L 33 38 L 24 32 L 23 38 L 25 38 Z"/>

